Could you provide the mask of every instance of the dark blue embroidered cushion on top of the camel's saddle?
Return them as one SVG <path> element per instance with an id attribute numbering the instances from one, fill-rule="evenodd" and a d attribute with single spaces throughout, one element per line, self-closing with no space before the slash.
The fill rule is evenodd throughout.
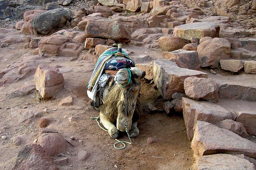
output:
<path id="1" fill-rule="evenodd" d="M 134 63 L 130 59 L 110 59 L 106 62 L 105 70 L 120 70 L 130 67 L 134 67 Z"/>

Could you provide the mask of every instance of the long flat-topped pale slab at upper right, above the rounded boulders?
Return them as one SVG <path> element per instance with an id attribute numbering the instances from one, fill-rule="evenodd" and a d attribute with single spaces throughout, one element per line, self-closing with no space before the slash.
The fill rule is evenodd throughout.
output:
<path id="1" fill-rule="evenodd" d="M 173 36 L 189 40 L 191 37 L 219 37 L 220 26 L 213 22 L 193 22 L 174 27 Z"/>

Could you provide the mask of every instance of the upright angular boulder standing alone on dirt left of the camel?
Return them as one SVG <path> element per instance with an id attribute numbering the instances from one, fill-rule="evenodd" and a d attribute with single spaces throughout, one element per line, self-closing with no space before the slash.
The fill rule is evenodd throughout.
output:
<path id="1" fill-rule="evenodd" d="M 64 78 L 59 69 L 39 65 L 34 74 L 34 83 L 43 98 L 51 98 L 62 89 Z"/>

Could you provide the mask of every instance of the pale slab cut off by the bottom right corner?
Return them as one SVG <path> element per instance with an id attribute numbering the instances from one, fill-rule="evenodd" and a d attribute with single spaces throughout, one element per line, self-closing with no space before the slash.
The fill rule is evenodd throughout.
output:
<path id="1" fill-rule="evenodd" d="M 230 154 L 202 156 L 193 164 L 193 170 L 255 170 L 253 163 Z"/>

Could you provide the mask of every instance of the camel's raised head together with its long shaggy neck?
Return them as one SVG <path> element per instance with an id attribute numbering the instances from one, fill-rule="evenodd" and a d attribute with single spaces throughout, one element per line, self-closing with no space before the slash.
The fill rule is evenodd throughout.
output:
<path id="1" fill-rule="evenodd" d="M 122 132 L 126 130 L 126 127 L 129 129 L 131 128 L 132 117 L 140 90 L 140 80 L 144 76 L 145 71 L 142 72 L 137 67 L 120 69 L 115 76 L 115 82 L 124 88 L 123 95 L 121 97 L 122 104 L 120 104 L 120 107 L 118 107 L 119 114 L 117 115 L 117 129 Z M 127 92 L 128 94 L 125 95 Z M 127 109 L 126 116 L 124 114 L 126 112 L 125 109 Z"/>

